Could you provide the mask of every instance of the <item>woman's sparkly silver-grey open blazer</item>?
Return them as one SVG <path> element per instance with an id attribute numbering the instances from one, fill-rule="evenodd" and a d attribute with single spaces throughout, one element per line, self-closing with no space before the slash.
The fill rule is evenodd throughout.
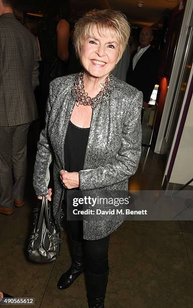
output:
<path id="1" fill-rule="evenodd" d="M 75 105 L 72 94 L 75 74 L 57 78 L 50 84 L 46 126 L 38 142 L 34 169 L 34 188 L 39 196 L 48 194 L 49 165 L 54 160 L 53 212 L 60 227 L 64 189 L 59 172 L 65 170 L 64 141 Z M 92 111 L 83 170 L 79 171 L 81 190 L 127 191 L 129 177 L 138 167 L 141 155 L 142 92 L 115 78 L 108 98 Z M 123 222 L 104 219 L 83 220 L 83 238 L 97 240 Z"/>

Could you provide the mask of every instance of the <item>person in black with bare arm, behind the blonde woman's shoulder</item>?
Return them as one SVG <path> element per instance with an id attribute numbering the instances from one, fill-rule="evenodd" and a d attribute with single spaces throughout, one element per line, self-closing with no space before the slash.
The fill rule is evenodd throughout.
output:
<path id="1" fill-rule="evenodd" d="M 69 56 L 69 23 L 66 18 L 68 8 L 60 0 L 48 1 L 43 18 L 38 25 L 37 37 L 40 45 L 40 87 L 39 114 L 41 126 L 44 126 L 45 106 L 50 82 L 66 74 L 66 61 Z"/>

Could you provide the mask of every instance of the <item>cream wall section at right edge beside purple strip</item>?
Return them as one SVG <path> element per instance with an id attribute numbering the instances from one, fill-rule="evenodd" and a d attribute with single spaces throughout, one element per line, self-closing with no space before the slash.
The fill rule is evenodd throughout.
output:
<path id="1" fill-rule="evenodd" d="M 193 178 L 193 95 L 169 182 L 185 184 Z M 190 185 L 193 186 L 193 183 Z"/>

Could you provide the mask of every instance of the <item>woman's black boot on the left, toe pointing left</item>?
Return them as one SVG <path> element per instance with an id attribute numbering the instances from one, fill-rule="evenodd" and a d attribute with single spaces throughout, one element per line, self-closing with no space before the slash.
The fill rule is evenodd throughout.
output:
<path id="1" fill-rule="evenodd" d="M 60 290 L 67 289 L 84 272 L 82 243 L 71 240 L 70 246 L 72 264 L 58 281 L 57 288 Z"/>

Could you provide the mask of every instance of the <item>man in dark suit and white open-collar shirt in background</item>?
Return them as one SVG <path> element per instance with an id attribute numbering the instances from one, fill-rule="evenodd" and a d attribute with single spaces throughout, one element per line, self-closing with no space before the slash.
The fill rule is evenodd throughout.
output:
<path id="1" fill-rule="evenodd" d="M 127 83 L 143 92 L 143 109 L 148 108 L 159 68 L 159 54 L 152 48 L 152 40 L 152 29 L 143 27 L 139 36 L 140 46 L 132 53 L 127 72 Z"/>

